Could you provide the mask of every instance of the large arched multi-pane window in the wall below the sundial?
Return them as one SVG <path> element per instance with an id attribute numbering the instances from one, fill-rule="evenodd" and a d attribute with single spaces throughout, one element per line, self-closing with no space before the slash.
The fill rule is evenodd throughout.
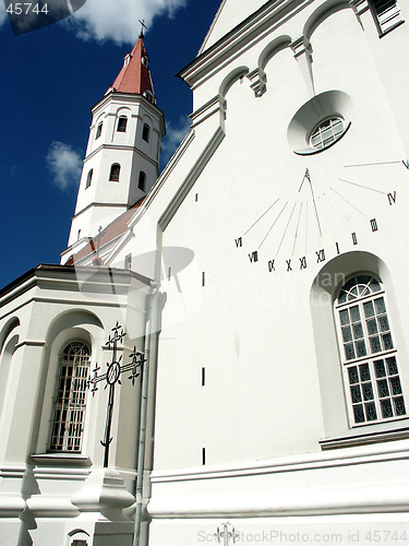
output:
<path id="1" fill-rule="evenodd" d="M 372 275 L 353 276 L 339 290 L 335 312 L 352 424 L 405 416 L 397 351 L 381 283 Z"/>

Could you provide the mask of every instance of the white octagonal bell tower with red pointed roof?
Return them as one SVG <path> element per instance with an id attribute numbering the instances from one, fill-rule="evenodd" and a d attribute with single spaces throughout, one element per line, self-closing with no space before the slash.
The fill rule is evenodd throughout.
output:
<path id="1" fill-rule="evenodd" d="M 69 237 L 76 249 L 143 198 L 158 176 L 165 121 L 142 33 L 92 116 Z"/>

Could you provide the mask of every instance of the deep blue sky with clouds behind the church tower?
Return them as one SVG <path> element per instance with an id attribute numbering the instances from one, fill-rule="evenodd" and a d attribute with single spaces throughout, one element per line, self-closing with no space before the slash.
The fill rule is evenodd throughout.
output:
<path id="1" fill-rule="evenodd" d="M 52 2 L 52 0 L 50 0 Z M 145 47 L 170 157 L 188 128 L 192 95 L 175 74 L 196 55 L 220 0 L 87 0 L 76 15 L 14 36 L 0 5 L 0 287 L 59 263 L 67 246 L 91 123 L 136 41 Z"/>

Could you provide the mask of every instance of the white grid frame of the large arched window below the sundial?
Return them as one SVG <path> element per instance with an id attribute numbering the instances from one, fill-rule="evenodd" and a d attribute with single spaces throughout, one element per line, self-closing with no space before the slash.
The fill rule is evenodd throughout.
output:
<path id="1" fill-rule="evenodd" d="M 376 283 L 380 285 L 380 290 L 376 292 L 371 292 L 370 294 L 359 296 L 352 300 L 347 300 L 344 302 L 338 304 L 339 296 L 341 294 L 342 288 L 350 283 L 352 278 L 357 278 L 360 276 L 366 276 L 370 277 L 371 280 L 375 280 Z M 353 285 L 352 285 L 353 286 Z M 384 300 L 384 309 L 385 311 L 382 313 L 377 313 L 375 311 L 375 314 L 373 316 L 366 316 L 364 312 L 364 304 L 368 304 L 370 301 L 375 301 L 377 299 L 383 298 Z M 346 309 L 351 309 L 352 307 L 359 307 L 360 311 L 360 320 L 359 321 L 350 321 L 345 324 L 341 323 L 341 318 L 340 318 L 340 311 L 346 310 Z M 375 307 L 375 306 L 373 306 Z M 337 334 L 337 341 L 338 341 L 338 352 L 339 352 L 339 360 L 340 360 L 340 366 L 341 366 L 341 375 L 342 375 L 342 382 L 344 382 L 344 390 L 345 390 L 345 400 L 346 400 L 346 405 L 347 405 L 347 411 L 348 411 L 348 419 L 351 428 L 356 427 L 362 427 L 362 426 L 371 426 L 375 424 L 382 424 L 382 423 L 387 423 L 387 422 L 394 422 L 394 420 L 399 420 L 399 419 L 405 419 L 408 418 L 408 410 L 405 401 L 405 392 L 402 388 L 402 377 L 401 373 L 399 373 L 400 370 L 400 364 L 399 364 L 399 358 L 398 358 L 398 348 L 396 347 L 396 341 L 395 336 L 393 335 L 394 332 L 394 327 L 393 327 L 393 321 L 390 320 L 390 313 L 389 311 L 389 305 L 387 301 L 387 295 L 385 287 L 383 286 L 382 282 L 376 277 L 376 275 L 372 273 L 354 273 L 353 275 L 349 276 L 348 281 L 337 290 L 337 297 L 334 300 L 334 318 L 335 318 L 335 324 L 336 324 L 336 334 Z M 349 311 L 348 311 L 349 312 Z M 376 328 L 377 328 L 377 334 L 381 340 L 381 334 L 383 333 L 381 331 L 380 327 L 380 321 L 378 317 L 386 317 L 386 321 L 388 323 L 388 330 L 387 332 L 390 333 L 390 339 L 392 339 L 392 348 L 385 348 L 385 346 L 382 347 L 381 351 L 376 351 L 371 353 L 371 335 L 375 336 L 376 333 L 372 332 L 370 333 L 369 327 L 366 325 L 369 321 L 376 321 Z M 350 313 L 349 313 L 349 317 Z M 362 325 L 362 337 L 354 337 L 353 334 L 353 324 L 357 324 L 358 322 L 361 323 Z M 347 358 L 346 352 L 345 352 L 345 337 L 342 334 L 342 327 L 349 325 L 350 331 L 351 331 L 351 340 L 352 343 L 354 344 L 354 341 L 358 339 L 359 341 L 362 339 L 364 340 L 365 344 L 365 349 L 366 349 L 366 355 L 362 356 L 357 356 L 354 355 L 353 358 Z M 385 332 L 385 331 L 384 331 Z M 348 343 L 348 340 L 347 340 Z M 382 343 L 382 342 L 381 342 Z M 396 373 L 388 373 L 389 365 L 392 367 L 392 360 L 395 360 L 396 365 Z M 377 375 L 377 370 L 381 370 L 381 360 L 383 360 L 383 366 L 386 371 L 385 376 L 380 376 Z M 363 366 L 368 364 L 368 369 L 369 369 L 369 379 L 362 378 L 364 373 Z M 352 370 L 353 368 L 357 369 L 357 375 L 358 375 L 358 382 L 350 382 L 351 380 L 351 375 L 349 370 Z M 362 370 L 362 372 L 361 372 Z M 400 387 L 400 393 L 394 393 L 393 392 L 393 381 L 389 379 L 392 378 L 398 378 L 399 387 Z M 389 391 L 389 395 L 381 395 L 381 383 L 385 382 L 387 383 L 387 390 Z M 368 387 L 370 384 L 370 388 Z M 357 388 L 359 387 L 359 393 L 357 391 Z M 359 400 L 353 400 L 353 394 L 352 394 L 352 388 L 354 389 L 356 395 L 358 394 L 361 397 L 361 401 Z M 372 391 L 373 397 L 372 399 L 366 399 L 365 400 L 365 390 L 366 394 L 370 394 Z M 404 408 L 405 413 L 402 414 L 396 414 L 396 404 L 395 404 L 395 399 L 401 397 L 402 403 L 404 403 Z M 384 417 L 383 415 L 383 402 L 386 401 L 386 399 L 389 400 L 390 406 L 393 410 L 394 415 L 393 416 L 386 416 Z M 366 413 L 366 406 L 365 402 L 370 404 L 373 401 L 374 407 L 376 410 L 376 418 L 370 419 L 368 418 L 369 413 Z M 386 402 L 385 402 L 386 404 Z M 354 405 L 361 405 L 362 411 L 364 411 L 364 419 L 362 422 L 357 420 L 356 418 L 356 413 L 354 413 Z"/>

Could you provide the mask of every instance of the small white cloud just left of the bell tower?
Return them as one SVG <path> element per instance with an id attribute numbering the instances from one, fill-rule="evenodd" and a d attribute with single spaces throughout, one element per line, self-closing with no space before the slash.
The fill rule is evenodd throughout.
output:
<path id="1" fill-rule="evenodd" d="M 52 182 L 60 190 L 79 186 L 82 173 L 82 158 L 80 152 L 75 151 L 70 144 L 52 142 L 48 150 L 46 162 L 53 177 Z"/>

